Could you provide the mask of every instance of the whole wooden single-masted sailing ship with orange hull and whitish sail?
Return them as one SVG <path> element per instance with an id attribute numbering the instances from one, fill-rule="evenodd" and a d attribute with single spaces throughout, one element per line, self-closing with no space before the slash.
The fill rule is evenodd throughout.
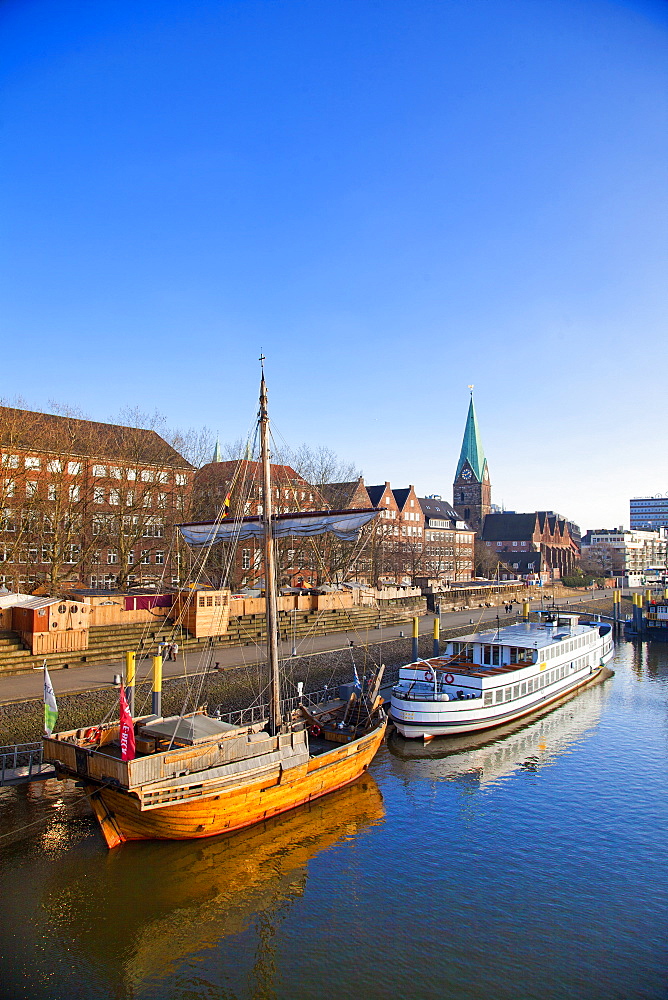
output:
<path id="1" fill-rule="evenodd" d="M 382 667 L 346 700 L 286 713 L 281 703 L 274 541 L 333 531 L 354 539 L 375 510 L 312 511 L 275 518 L 271 506 L 267 390 L 260 386 L 265 508 L 261 518 L 182 525 L 190 544 L 261 537 L 270 670 L 268 717 L 233 726 L 198 711 L 132 720 L 136 756 L 123 760 L 119 723 L 44 739 L 44 760 L 82 783 L 107 845 L 127 840 L 210 837 L 258 823 L 342 788 L 371 763 L 386 727 Z"/>

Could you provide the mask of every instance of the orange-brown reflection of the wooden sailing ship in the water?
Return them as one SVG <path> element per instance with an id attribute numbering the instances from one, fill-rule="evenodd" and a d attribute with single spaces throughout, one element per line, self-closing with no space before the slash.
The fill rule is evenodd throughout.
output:
<path id="1" fill-rule="evenodd" d="M 317 854 L 384 815 L 380 790 L 367 774 L 225 837 L 131 843 L 104 855 L 72 852 L 67 881 L 55 869 L 41 906 L 56 933 L 77 942 L 84 962 L 120 975 L 132 993 L 242 933 L 259 915 L 271 922 L 272 914 L 303 895 Z"/>

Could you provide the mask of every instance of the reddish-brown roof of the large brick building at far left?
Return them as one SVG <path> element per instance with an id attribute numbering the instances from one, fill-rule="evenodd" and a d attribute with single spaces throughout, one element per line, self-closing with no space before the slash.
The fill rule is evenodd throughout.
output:
<path id="1" fill-rule="evenodd" d="M 155 431 L 13 406 L 0 406 L 0 444 L 50 455 L 192 469 Z"/>

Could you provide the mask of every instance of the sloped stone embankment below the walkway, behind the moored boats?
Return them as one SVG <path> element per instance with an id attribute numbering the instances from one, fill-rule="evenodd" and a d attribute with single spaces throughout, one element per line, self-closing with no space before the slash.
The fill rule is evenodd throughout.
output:
<path id="1" fill-rule="evenodd" d="M 612 600 L 587 602 L 574 610 L 592 614 L 612 614 Z M 565 608 L 563 609 L 565 610 Z M 517 618 L 503 620 L 503 624 L 517 621 Z M 488 627 L 491 622 L 485 623 Z M 441 629 L 443 641 L 457 635 L 471 632 L 467 624 L 448 629 L 446 620 Z M 420 656 L 429 657 L 433 652 L 431 635 L 422 635 L 419 640 Z M 289 658 L 285 664 L 286 693 L 295 693 L 297 681 L 304 682 L 305 691 L 315 691 L 325 684 L 329 687 L 349 681 L 353 675 L 353 657 L 360 676 L 375 669 L 380 662 L 386 664 L 388 673 L 392 668 L 410 660 L 412 643 L 410 638 L 392 638 L 378 643 L 358 645 L 352 649 L 338 649 L 312 653 L 308 656 Z M 390 674 L 391 676 L 391 674 Z M 191 711 L 201 704 L 209 708 L 221 706 L 221 711 L 229 712 L 245 708 L 253 701 L 263 700 L 259 693 L 266 690 L 267 676 L 264 666 L 250 665 L 230 667 L 222 672 L 193 674 L 188 678 L 167 678 L 163 682 L 162 710 L 164 715 L 174 715 Z M 137 687 L 135 712 L 137 715 L 150 712 L 151 682 L 143 680 Z M 78 729 L 92 726 L 104 719 L 118 718 L 118 692 L 112 686 L 82 691 L 77 694 L 58 696 L 58 729 Z M 28 743 L 42 735 L 43 704 L 41 699 L 29 699 L 0 705 L 0 743 Z"/>

